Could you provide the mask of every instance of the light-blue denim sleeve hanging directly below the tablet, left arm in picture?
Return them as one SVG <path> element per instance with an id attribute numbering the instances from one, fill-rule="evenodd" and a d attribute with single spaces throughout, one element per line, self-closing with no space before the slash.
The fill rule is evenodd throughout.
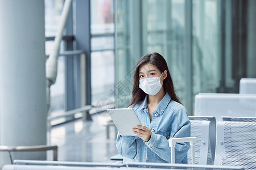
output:
<path id="1" fill-rule="evenodd" d="M 120 155 L 134 159 L 137 155 L 137 145 L 135 136 L 122 136 L 120 133 L 117 134 L 117 150 Z"/>

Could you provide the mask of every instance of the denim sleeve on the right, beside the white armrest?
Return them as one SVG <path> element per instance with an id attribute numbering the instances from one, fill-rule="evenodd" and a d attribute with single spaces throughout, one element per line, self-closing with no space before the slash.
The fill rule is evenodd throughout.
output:
<path id="1" fill-rule="evenodd" d="M 178 113 L 176 115 L 178 126 L 173 138 L 190 137 L 190 121 L 188 119 L 187 112 Z M 169 142 L 166 137 L 151 133 L 150 140 L 145 143 L 152 152 L 155 152 L 155 154 L 157 154 L 160 158 L 171 163 L 171 147 L 169 147 Z M 187 163 L 188 149 L 189 142 L 176 143 L 175 163 Z"/>

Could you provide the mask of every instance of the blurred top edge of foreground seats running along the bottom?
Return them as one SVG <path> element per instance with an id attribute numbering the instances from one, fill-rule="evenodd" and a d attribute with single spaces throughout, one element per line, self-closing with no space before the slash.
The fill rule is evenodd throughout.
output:
<path id="1" fill-rule="evenodd" d="M 23 160 L 23 163 L 26 160 Z M 36 165 L 36 162 L 38 165 Z M 17 161 L 16 161 L 17 163 Z M 46 161 L 34 161 L 32 164 L 28 162 L 27 164 L 14 164 L 14 165 L 5 165 L 3 170 L 28 170 L 28 169 L 200 169 L 200 170 L 245 170 L 242 167 L 231 167 L 231 166 L 215 166 L 215 165 L 189 165 L 189 164 L 168 164 L 168 163 L 127 163 L 127 164 L 108 164 L 105 163 L 87 163 L 88 166 L 85 166 L 84 163 L 76 162 L 62 162 L 58 165 L 59 162 L 46 162 Z M 66 165 L 63 165 L 66 164 Z M 72 164 L 72 165 L 67 165 Z M 82 164 L 82 166 L 80 165 Z"/>

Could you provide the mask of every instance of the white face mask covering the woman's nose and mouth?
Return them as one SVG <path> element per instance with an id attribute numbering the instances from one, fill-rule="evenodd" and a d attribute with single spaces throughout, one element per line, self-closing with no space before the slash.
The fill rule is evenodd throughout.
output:
<path id="1" fill-rule="evenodd" d="M 162 74 L 159 77 L 140 79 L 139 88 L 141 88 L 141 90 L 143 90 L 148 95 L 156 95 L 163 85 L 163 83 L 160 83 L 160 77 L 162 76 Z"/>

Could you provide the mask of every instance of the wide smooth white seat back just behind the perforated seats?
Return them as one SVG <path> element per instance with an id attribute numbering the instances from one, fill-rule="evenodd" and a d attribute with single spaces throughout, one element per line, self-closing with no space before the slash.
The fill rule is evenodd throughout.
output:
<path id="1" fill-rule="evenodd" d="M 195 116 L 256 117 L 256 94 L 198 94 L 195 97 Z"/>

